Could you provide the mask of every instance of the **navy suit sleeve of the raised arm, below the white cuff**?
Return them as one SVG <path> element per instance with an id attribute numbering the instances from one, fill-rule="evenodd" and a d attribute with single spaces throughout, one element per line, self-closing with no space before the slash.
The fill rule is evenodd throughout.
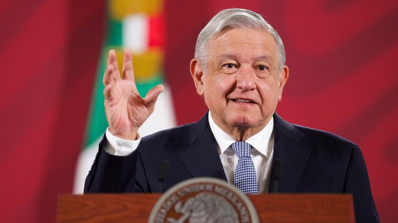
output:
<path id="1" fill-rule="evenodd" d="M 135 175 L 138 150 L 127 156 L 113 156 L 104 151 L 106 136 L 100 142 L 96 159 L 86 177 L 85 193 L 121 193 L 136 191 Z M 139 188 L 139 187 L 138 187 Z M 139 189 L 137 192 L 140 192 Z"/>

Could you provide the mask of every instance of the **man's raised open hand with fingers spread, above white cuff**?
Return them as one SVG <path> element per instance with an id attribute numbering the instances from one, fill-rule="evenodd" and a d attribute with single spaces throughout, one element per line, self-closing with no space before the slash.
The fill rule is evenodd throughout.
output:
<path id="1" fill-rule="evenodd" d="M 134 140 L 138 128 L 155 108 L 163 85 L 153 87 L 141 98 L 134 81 L 130 50 L 124 51 L 122 76 L 117 67 L 116 53 L 109 51 L 107 68 L 103 75 L 104 107 L 109 131 L 120 138 Z"/>

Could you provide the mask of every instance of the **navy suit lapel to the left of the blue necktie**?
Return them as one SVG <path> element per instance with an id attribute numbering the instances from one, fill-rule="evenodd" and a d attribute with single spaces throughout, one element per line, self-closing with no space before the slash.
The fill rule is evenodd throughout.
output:
<path id="1" fill-rule="evenodd" d="M 182 142 L 182 146 L 188 149 L 179 157 L 193 177 L 209 176 L 227 180 L 216 145 L 207 112 Z"/>

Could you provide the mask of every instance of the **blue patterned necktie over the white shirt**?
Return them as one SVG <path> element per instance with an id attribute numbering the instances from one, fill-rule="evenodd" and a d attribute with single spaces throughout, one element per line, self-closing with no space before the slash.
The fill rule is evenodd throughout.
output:
<path id="1" fill-rule="evenodd" d="M 239 158 L 233 177 L 235 187 L 244 194 L 258 194 L 256 168 L 250 157 L 251 145 L 247 142 L 234 142 L 231 147 Z"/>

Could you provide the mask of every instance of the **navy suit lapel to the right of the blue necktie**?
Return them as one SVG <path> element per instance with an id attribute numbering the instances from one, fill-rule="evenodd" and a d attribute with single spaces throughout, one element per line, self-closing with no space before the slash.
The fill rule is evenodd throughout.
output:
<path id="1" fill-rule="evenodd" d="M 310 150 L 303 146 L 304 135 L 292 124 L 283 120 L 278 114 L 274 114 L 275 142 L 273 166 L 281 160 L 281 173 L 278 192 L 294 193 L 301 178 L 304 167 L 307 164 Z M 273 188 L 275 168 L 271 169 L 269 190 Z"/>

